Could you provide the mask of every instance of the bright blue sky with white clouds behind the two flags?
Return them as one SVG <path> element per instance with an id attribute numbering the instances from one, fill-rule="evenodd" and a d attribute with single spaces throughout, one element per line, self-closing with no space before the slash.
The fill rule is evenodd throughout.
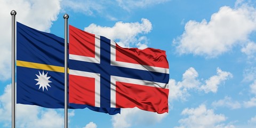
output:
<path id="1" fill-rule="evenodd" d="M 0 127 L 11 127 L 11 10 L 17 21 L 64 36 L 69 24 L 125 47 L 166 51 L 169 114 L 110 116 L 69 110 L 69 127 L 255 127 L 256 3 L 245 0 L 2 0 Z M 63 127 L 62 109 L 17 105 L 17 127 Z"/>

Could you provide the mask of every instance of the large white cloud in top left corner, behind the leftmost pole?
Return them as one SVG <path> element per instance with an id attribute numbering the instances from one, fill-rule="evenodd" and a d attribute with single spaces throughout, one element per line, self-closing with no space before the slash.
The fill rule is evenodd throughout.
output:
<path id="1" fill-rule="evenodd" d="M 0 80 L 11 78 L 11 14 L 17 11 L 16 19 L 27 26 L 49 31 L 52 21 L 57 20 L 60 0 L 1 0 L 1 42 L 0 42 Z"/>

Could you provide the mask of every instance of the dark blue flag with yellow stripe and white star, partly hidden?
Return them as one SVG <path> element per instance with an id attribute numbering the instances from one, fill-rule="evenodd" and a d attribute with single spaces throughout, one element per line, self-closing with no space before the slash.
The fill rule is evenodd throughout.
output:
<path id="1" fill-rule="evenodd" d="M 64 39 L 17 22 L 17 103 L 45 108 L 64 108 Z M 68 108 L 120 113 L 70 103 Z"/>

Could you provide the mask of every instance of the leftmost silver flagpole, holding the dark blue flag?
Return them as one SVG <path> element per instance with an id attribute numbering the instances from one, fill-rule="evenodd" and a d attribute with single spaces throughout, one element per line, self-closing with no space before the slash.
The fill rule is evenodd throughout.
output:
<path id="1" fill-rule="evenodd" d="M 15 128 L 15 15 L 16 11 L 12 10 L 12 128 Z"/>

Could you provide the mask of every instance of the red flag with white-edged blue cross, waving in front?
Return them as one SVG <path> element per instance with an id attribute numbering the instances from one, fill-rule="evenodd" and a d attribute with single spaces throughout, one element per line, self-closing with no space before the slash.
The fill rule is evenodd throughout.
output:
<path id="1" fill-rule="evenodd" d="M 165 51 L 123 48 L 69 25 L 69 102 L 168 112 Z"/>

